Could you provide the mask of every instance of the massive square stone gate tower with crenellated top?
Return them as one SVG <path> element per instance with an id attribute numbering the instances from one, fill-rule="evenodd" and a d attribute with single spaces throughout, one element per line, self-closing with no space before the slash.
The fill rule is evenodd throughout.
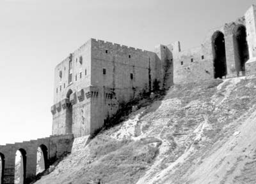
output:
<path id="1" fill-rule="evenodd" d="M 71 53 L 55 69 L 52 134 L 91 134 L 121 103 L 152 90 L 154 81 L 161 88 L 170 87 L 168 49 L 159 45 L 156 50 L 90 39 Z"/>

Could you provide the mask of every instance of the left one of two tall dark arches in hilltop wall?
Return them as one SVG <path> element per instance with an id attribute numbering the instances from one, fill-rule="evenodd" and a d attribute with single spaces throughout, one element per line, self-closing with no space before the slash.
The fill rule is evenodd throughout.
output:
<path id="1" fill-rule="evenodd" d="M 227 59 L 225 50 L 225 38 L 221 31 L 212 35 L 212 54 L 214 78 L 222 78 L 227 75 Z"/>

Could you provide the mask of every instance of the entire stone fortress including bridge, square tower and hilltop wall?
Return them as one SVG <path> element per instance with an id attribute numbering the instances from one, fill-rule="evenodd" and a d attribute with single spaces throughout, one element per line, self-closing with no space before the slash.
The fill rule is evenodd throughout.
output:
<path id="1" fill-rule="evenodd" d="M 208 32 L 196 48 L 182 51 L 179 41 L 154 52 L 90 39 L 54 71 L 52 136 L 0 146 L 0 184 L 13 184 L 15 153 L 22 155 L 20 183 L 36 176 L 36 151 L 45 169 L 70 153 L 74 138 L 100 129 L 121 104 L 171 85 L 256 73 L 256 6 L 244 17 Z"/>

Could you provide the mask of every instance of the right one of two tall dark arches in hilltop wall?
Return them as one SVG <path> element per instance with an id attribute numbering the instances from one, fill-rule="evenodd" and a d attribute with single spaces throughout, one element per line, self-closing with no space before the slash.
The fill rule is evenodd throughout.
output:
<path id="1" fill-rule="evenodd" d="M 248 43 L 246 41 L 246 27 L 243 24 L 236 25 L 233 29 L 234 55 L 236 72 L 245 75 L 245 63 L 249 59 Z"/>

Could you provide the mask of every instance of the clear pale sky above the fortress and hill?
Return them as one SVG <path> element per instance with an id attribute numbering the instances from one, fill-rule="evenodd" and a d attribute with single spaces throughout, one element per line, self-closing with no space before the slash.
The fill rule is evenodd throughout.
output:
<path id="1" fill-rule="evenodd" d="M 242 17 L 255 0 L 0 0 L 0 145 L 51 135 L 54 67 L 90 38 L 145 50 Z"/>

